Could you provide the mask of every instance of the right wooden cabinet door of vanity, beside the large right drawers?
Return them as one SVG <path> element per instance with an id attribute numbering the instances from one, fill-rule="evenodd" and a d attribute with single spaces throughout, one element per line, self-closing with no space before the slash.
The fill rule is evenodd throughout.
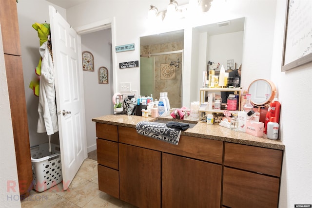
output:
<path id="1" fill-rule="evenodd" d="M 221 177 L 221 165 L 163 153 L 162 208 L 220 207 Z"/>

